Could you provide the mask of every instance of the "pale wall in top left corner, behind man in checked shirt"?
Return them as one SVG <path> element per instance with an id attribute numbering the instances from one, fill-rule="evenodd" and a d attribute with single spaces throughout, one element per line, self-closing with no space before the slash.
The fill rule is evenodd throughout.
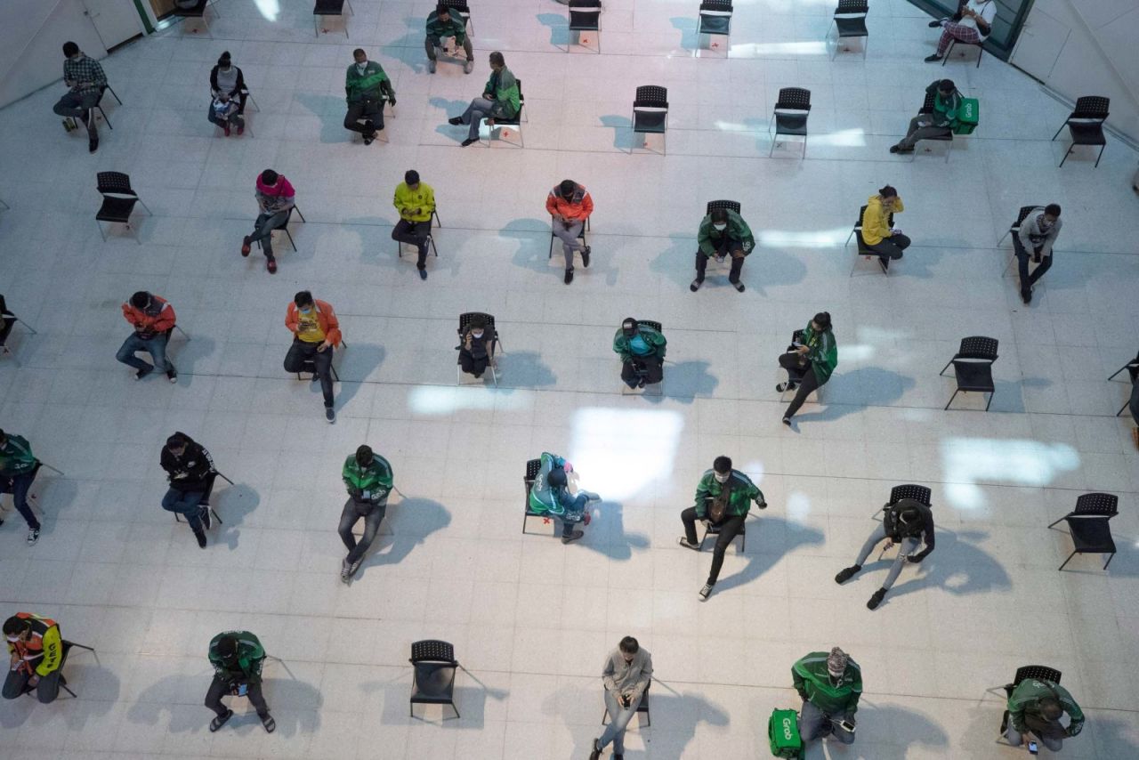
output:
<path id="1" fill-rule="evenodd" d="M 62 79 L 67 40 L 92 58 L 106 57 L 83 11 L 81 0 L 0 0 L 0 106 Z"/>

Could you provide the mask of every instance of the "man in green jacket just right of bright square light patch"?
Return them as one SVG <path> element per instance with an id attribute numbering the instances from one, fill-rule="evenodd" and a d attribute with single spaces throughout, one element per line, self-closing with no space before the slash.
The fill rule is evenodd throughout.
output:
<path id="1" fill-rule="evenodd" d="M 723 566 L 724 551 L 744 529 L 753 500 L 757 508 L 767 509 L 768 501 L 763 498 L 763 491 L 751 477 L 732 469 L 730 457 L 720 456 L 712 461 L 712 468 L 704 472 L 696 485 L 694 505 L 680 513 L 685 534 L 679 542 L 686 549 L 700 550 L 700 542 L 696 538 L 697 520 L 704 523 L 705 531 L 713 526 L 720 529 L 712 550 L 712 569 L 708 570 L 707 582 L 699 590 L 700 602 L 712 594 Z"/>

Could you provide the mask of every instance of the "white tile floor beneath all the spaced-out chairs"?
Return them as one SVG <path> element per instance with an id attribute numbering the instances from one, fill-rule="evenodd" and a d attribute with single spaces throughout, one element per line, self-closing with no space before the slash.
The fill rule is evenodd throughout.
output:
<path id="1" fill-rule="evenodd" d="M 792 706 L 792 662 L 842 645 L 862 663 L 859 741 L 811 758 L 1005 758 L 1001 703 L 986 688 L 1021 664 L 1064 671 L 1085 708 L 1065 755 L 1139 755 L 1139 459 L 1125 385 L 1134 356 L 1139 259 L 1136 156 L 1111 139 L 1099 169 L 1049 137 L 1065 108 L 1018 72 L 921 63 L 927 17 L 875 0 L 871 41 L 830 62 L 831 0 L 740 2 L 729 58 L 694 59 L 696 2 L 613 0 L 604 56 L 566 55 L 552 0 L 481 2 L 477 67 L 426 73 L 429 2 L 354 2 L 351 39 L 313 36 L 309 6 L 222 0 L 214 40 L 180 27 L 105 62 L 123 105 L 90 156 L 57 126 L 55 87 L 0 112 L 0 292 L 39 329 L 17 328 L 19 365 L 0 360 L 0 426 L 66 472 L 44 472 L 43 536 L 24 546 L 9 506 L 0 530 L 3 614 L 55 616 L 98 659 L 74 655 L 75 703 L 0 705 L 5 758 L 584 758 L 598 734 L 598 669 L 626 634 L 653 652 L 653 727 L 629 758 L 764 757 L 767 716 Z M 274 16 L 268 18 L 267 16 Z M 390 145 L 341 126 L 354 47 L 399 93 Z M 261 112 L 255 137 L 206 122 L 210 66 L 228 49 Z M 486 54 L 525 82 L 526 148 L 458 148 L 449 115 L 478 95 Z M 944 163 L 886 147 L 936 76 L 981 98 L 982 125 Z M 631 145 L 633 88 L 663 84 L 667 157 Z M 768 158 L 780 87 L 811 89 L 811 138 Z M 1089 83 L 1089 90 L 1093 90 Z M 253 181 L 272 166 L 308 223 L 280 271 L 238 255 Z M 390 199 L 403 171 L 435 187 L 440 258 L 420 283 L 393 258 Z M 142 245 L 103 243 L 95 173 L 130 173 L 153 218 Z M 564 177 L 597 203 L 593 264 L 571 287 L 548 244 L 547 190 Z M 915 239 L 888 279 L 843 242 L 858 207 L 890 182 Z M 694 237 L 706 201 L 737 198 L 761 240 L 747 292 L 722 275 L 696 295 Z M 1056 265 L 1031 308 L 1011 247 L 997 238 L 1018 206 L 1057 202 Z M 853 271 L 852 271 L 853 265 Z M 853 276 L 852 276 L 853 275 Z M 341 314 L 339 419 L 281 370 L 285 307 L 311 288 Z M 172 344 L 178 385 L 132 383 L 114 360 L 137 289 L 169 297 L 191 341 Z M 456 387 L 454 324 L 494 313 L 508 354 L 500 387 Z M 839 366 L 827 403 L 779 423 L 776 356 L 816 311 L 834 314 Z M 609 350 L 620 320 L 664 322 L 663 399 L 621 398 Z M 965 335 L 1000 340 L 998 392 L 942 411 L 937 370 Z M 206 551 L 158 506 L 158 449 L 174 430 L 204 442 L 236 485 Z M 361 442 L 393 464 L 405 495 L 352 587 L 338 579 L 339 465 Z M 576 546 L 521 536 L 519 476 L 542 450 L 576 463 L 606 497 Z M 715 596 L 696 591 L 710 557 L 680 550 L 679 512 L 715 455 L 731 455 L 771 508 L 729 553 Z M 892 485 L 933 488 L 937 549 L 908 569 L 878 611 L 876 575 L 839 588 Z M 1070 539 L 1046 525 L 1076 496 L 1120 496 L 1120 555 L 1057 573 Z M 6 504 L 9 501 L 6 499 Z M 205 648 L 227 628 L 270 654 L 278 732 L 246 714 L 210 734 Z M 460 720 L 407 718 L 409 644 L 456 644 Z M 244 703 L 243 703 L 244 708 Z"/>

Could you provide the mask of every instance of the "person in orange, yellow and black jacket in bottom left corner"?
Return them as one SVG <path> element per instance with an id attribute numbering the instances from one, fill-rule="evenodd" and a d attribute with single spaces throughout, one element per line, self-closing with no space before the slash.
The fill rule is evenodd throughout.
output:
<path id="1" fill-rule="evenodd" d="M 3 622 L 3 635 L 10 656 L 3 698 L 15 700 L 34 690 L 41 704 L 54 702 L 59 696 L 60 684 L 66 683 L 59 670 L 64 662 L 59 623 L 30 612 L 17 612 Z"/>

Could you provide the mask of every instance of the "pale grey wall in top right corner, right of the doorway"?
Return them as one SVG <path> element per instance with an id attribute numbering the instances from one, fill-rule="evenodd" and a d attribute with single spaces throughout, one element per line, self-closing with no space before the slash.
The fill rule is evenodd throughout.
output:
<path id="1" fill-rule="evenodd" d="M 1009 63 L 1070 100 L 1112 99 L 1108 124 L 1139 142 L 1139 3 L 1035 0 Z"/>

